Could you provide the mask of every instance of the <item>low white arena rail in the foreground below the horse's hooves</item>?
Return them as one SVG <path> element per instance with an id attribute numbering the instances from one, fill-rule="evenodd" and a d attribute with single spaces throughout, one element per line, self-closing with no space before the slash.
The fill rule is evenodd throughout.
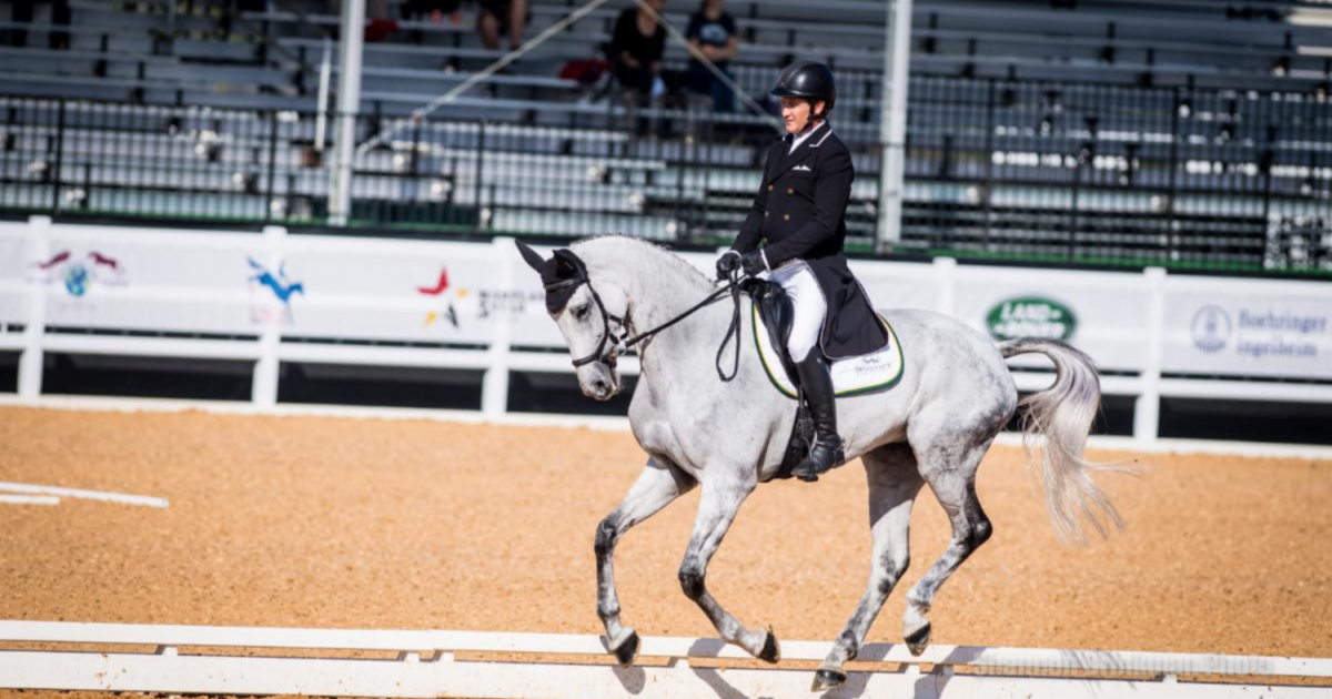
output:
<path id="1" fill-rule="evenodd" d="M 77 646 L 72 646 L 77 644 Z M 137 646 L 113 648 L 115 646 Z M 762 666 L 715 639 L 645 638 L 642 667 L 593 635 L 0 622 L 0 688 L 472 699 L 810 696 L 829 643 L 786 642 Z M 200 650 L 209 654 L 200 654 Z M 325 656 L 318 656 L 320 652 Z M 326 656 L 376 651 L 378 659 Z M 301 656 L 293 656 L 300 652 Z M 458 654 L 503 654 L 460 658 Z M 313 655 L 313 656 L 312 656 Z M 593 656 L 589 659 L 587 656 Z M 734 660 L 749 660 L 737 667 Z M 827 696 L 1327 699 L 1332 660 L 1166 652 L 866 646 Z M 1319 686 L 1320 684 L 1320 686 Z"/>

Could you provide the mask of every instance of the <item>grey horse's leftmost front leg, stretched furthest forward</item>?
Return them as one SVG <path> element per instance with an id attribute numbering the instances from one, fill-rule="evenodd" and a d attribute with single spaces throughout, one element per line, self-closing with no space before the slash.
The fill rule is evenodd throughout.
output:
<path id="1" fill-rule="evenodd" d="M 694 479 L 666 459 L 650 458 L 629 494 L 597 525 L 597 615 L 606 626 L 606 640 L 619 664 L 629 667 L 638 655 L 638 634 L 619 623 L 619 596 L 615 594 L 615 542 L 630 527 L 657 514 L 675 498 L 689 493 Z"/>

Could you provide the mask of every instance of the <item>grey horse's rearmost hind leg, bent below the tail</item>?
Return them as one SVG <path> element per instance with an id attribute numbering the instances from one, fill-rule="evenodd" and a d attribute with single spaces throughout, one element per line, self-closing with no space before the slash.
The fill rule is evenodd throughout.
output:
<path id="1" fill-rule="evenodd" d="M 902 618 L 902 636 L 907 642 L 907 648 L 914 655 L 924 652 L 930 643 L 930 606 L 939 587 L 958 570 L 967 557 L 980 547 L 987 539 L 992 527 L 980 509 L 976 499 L 976 469 L 986 450 L 990 449 L 990 437 L 980 445 L 966 445 L 964 438 L 956 434 L 946 439 L 936 439 L 934 443 L 922 447 L 912 437 L 912 446 L 916 459 L 920 463 L 920 475 L 930 483 L 935 498 L 943 506 L 952 525 L 952 541 L 944 550 L 939 561 L 930 567 L 930 571 L 907 592 L 907 610 Z"/>

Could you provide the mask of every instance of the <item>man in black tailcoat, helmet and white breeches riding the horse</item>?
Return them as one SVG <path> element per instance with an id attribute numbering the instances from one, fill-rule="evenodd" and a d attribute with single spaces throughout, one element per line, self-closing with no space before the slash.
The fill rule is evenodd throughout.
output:
<path id="1" fill-rule="evenodd" d="M 829 362 L 876 351 L 888 337 L 843 252 L 855 170 L 829 122 L 836 103 L 832 72 L 821 63 L 794 63 L 771 95 L 782 100 L 786 136 L 767 150 L 754 205 L 735 244 L 717 261 L 717 276 L 729 278 L 737 268 L 746 276 L 767 273 L 791 298 L 786 348 L 815 433 L 809 457 L 791 474 L 818 481 L 846 461 Z"/>

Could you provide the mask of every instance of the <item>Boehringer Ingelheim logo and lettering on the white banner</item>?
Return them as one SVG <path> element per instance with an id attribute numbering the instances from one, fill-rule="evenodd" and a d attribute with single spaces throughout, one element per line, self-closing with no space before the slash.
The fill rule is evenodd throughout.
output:
<path id="1" fill-rule="evenodd" d="M 1229 313 L 1221 306 L 1205 305 L 1193 314 L 1192 324 L 1197 349 L 1216 354 L 1233 348 L 1236 354 L 1255 359 L 1317 358 L 1317 336 L 1327 332 L 1328 316 L 1272 308 L 1241 308 Z"/>

